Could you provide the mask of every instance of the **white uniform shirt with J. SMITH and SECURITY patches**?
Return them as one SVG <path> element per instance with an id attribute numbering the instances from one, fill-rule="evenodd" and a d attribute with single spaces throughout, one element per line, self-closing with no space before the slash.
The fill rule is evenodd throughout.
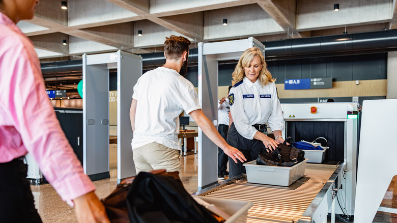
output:
<path id="1" fill-rule="evenodd" d="M 284 119 L 276 85 L 269 82 L 262 86 L 259 79 L 252 83 L 247 77 L 230 90 L 230 112 L 237 131 L 249 140 L 257 133 L 252 125 L 269 124 L 274 130 L 284 129 Z"/>

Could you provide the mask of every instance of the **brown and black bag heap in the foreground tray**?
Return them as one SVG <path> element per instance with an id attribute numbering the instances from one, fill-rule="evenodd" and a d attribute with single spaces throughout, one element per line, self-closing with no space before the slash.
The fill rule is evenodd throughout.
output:
<path id="1" fill-rule="evenodd" d="M 224 221 L 198 204 L 178 172 L 154 170 L 124 179 L 102 200 L 112 223 L 218 223 Z"/>

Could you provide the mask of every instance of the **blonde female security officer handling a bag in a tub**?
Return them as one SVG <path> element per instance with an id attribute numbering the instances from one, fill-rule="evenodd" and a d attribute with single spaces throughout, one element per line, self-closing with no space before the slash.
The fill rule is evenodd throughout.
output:
<path id="1" fill-rule="evenodd" d="M 265 58 L 259 48 L 252 47 L 243 52 L 232 76 L 234 86 L 230 90 L 229 103 L 233 123 L 227 142 L 239 149 L 248 162 L 257 159 L 262 147 L 274 150 L 277 144 L 284 142 L 281 136 L 284 119 L 273 82 L 275 79 L 266 69 Z M 266 135 L 266 122 L 275 140 Z M 232 161 L 229 160 L 230 177 L 245 173 L 242 162 Z"/>

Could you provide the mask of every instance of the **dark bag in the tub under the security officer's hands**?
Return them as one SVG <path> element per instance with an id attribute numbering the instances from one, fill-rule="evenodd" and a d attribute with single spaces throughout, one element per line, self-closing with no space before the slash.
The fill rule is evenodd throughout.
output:
<path id="1" fill-rule="evenodd" d="M 287 146 L 287 143 L 290 145 Z M 288 137 L 286 141 L 272 151 L 268 152 L 267 149 L 261 148 L 257 158 L 258 165 L 272 165 L 272 166 L 293 166 L 305 159 L 305 152 L 293 147 L 293 140 Z"/>

